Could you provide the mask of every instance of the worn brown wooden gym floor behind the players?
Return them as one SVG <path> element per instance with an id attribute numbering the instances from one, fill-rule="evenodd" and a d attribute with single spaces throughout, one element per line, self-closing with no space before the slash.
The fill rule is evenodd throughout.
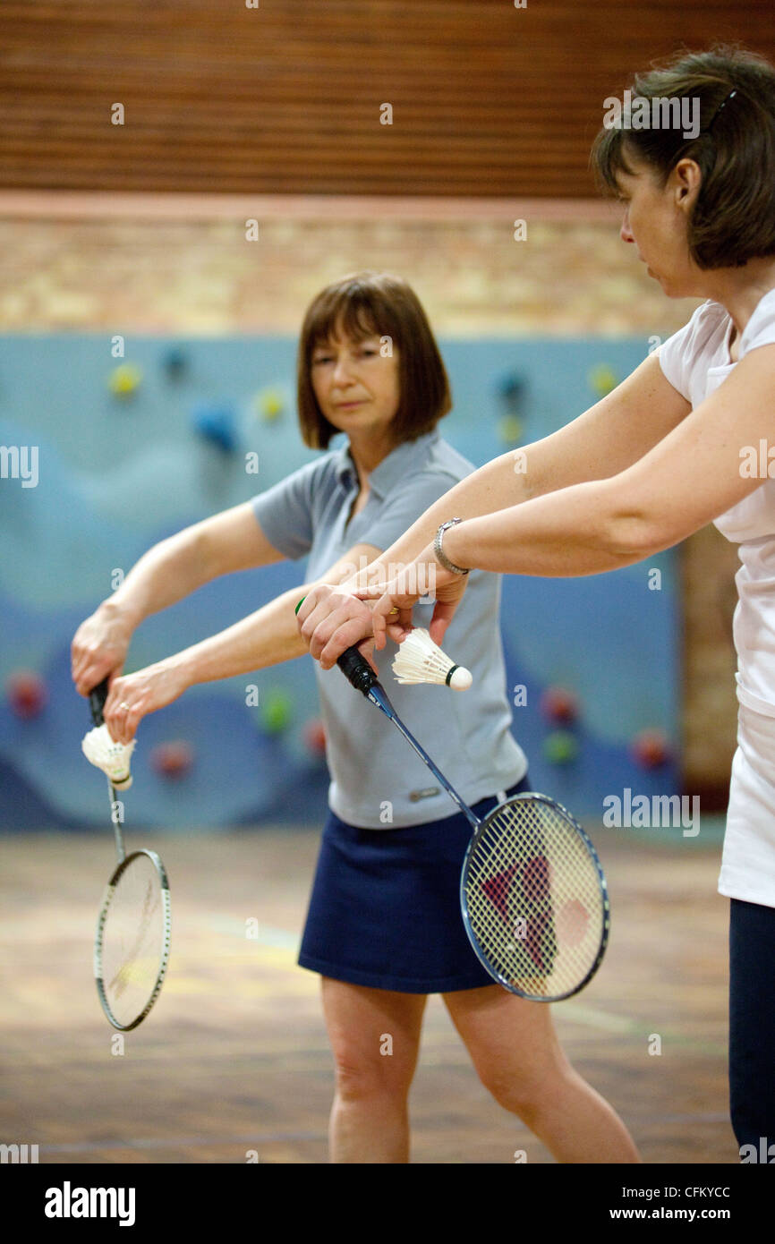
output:
<path id="1" fill-rule="evenodd" d="M 719 846 L 628 833 L 595 835 L 612 940 L 592 984 L 554 1008 L 557 1030 L 646 1162 L 736 1163 Z M 326 1162 L 331 1056 L 318 978 L 295 963 L 317 835 L 128 832 L 129 848 L 163 855 L 173 942 L 162 995 L 123 1055 L 91 977 L 111 837 L 0 841 L 0 1142 L 39 1144 L 50 1163 L 244 1163 L 251 1149 L 260 1162 Z M 649 1054 L 657 1037 L 662 1052 Z M 554 1161 L 481 1087 L 439 998 L 411 1110 L 413 1162 L 513 1163 L 517 1149 Z"/>

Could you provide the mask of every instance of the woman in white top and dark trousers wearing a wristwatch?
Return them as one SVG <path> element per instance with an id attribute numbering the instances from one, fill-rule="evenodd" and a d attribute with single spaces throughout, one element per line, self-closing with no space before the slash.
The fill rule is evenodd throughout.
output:
<path id="1" fill-rule="evenodd" d="M 731 901 L 731 1121 L 741 1158 L 758 1161 L 760 1138 L 775 1140 L 775 478 L 751 463 L 775 442 L 775 70 L 715 47 L 638 75 L 632 96 L 699 101 L 695 137 L 623 118 L 592 163 L 649 275 L 668 297 L 705 301 L 618 388 L 520 450 L 524 473 L 504 454 L 432 506 L 383 554 L 406 571 L 384 595 L 364 590 L 382 596 L 373 613 L 353 595 L 367 573 L 313 591 L 299 620 L 327 668 L 372 633 L 381 648 L 386 617 L 402 637 L 418 573 L 435 576 L 440 642 L 453 616 L 455 638 L 474 567 L 597 575 L 710 521 L 738 545 L 739 746 L 719 892 Z"/>

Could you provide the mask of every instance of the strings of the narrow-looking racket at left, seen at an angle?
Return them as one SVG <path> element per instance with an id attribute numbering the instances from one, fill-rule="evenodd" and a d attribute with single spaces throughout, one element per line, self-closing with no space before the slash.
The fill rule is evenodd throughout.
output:
<path id="1" fill-rule="evenodd" d="M 147 855 L 136 856 L 112 888 L 101 923 L 100 969 L 118 1024 L 131 1024 L 153 995 L 167 960 L 169 928 L 162 880 Z"/>

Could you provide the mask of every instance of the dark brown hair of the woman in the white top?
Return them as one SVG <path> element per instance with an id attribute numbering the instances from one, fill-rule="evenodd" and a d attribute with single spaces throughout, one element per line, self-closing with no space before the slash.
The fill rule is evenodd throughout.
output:
<path id="1" fill-rule="evenodd" d="M 733 95 L 734 92 L 734 95 Z M 775 68 L 763 56 L 719 45 L 682 52 L 637 73 L 632 96 L 698 98 L 699 133 L 680 127 L 601 129 L 591 164 L 607 193 L 617 173 L 632 173 L 627 157 L 656 172 L 662 185 L 678 162 L 697 162 L 702 185 L 689 224 L 689 250 L 703 269 L 741 267 L 775 255 Z"/>

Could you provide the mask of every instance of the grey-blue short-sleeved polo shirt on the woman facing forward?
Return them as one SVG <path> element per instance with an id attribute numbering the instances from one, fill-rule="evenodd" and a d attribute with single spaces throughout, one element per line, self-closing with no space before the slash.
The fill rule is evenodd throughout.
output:
<path id="1" fill-rule="evenodd" d="M 358 475 L 348 445 L 323 454 L 253 499 L 255 516 L 284 556 L 307 556 L 307 582 L 326 573 L 353 545 L 384 551 L 434 501 L 473 470 L 438 432 L 404 442 L 369 475 L 366 506 L 348 521 Z M 453 516 L 452 514 L 449 515 Z M 473 674 L 466 692 L 401 685 L 392 672 L 396 644 L 376 653 L 379 680 L 396 712 L 466 804 L 524 778 L 527 760 L 510 733 L 511 710 L 499 626 L 500 576 L 471 571 L 444 636 L 444 651 Z M 427 627 L 433 602 L 414 607 Z M 328 802 L 342 821 L 367 830 L 420 825 L 458 811 L 384 714 L 335 667 L 315 662 L 331 773 Z"/>

